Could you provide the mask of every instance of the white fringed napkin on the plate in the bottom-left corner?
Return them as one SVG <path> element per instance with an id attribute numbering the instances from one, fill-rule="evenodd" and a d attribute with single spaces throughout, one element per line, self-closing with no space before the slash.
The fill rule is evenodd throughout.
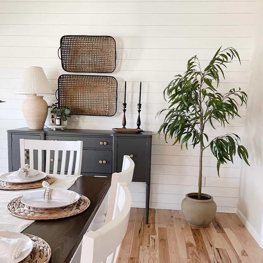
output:
<path id="1" fill-rule="evenodd" d="M 22 238 L 10 239 L 0 236 L 0 254 L 16 259 L 25 248 L 26 241 Z"/>

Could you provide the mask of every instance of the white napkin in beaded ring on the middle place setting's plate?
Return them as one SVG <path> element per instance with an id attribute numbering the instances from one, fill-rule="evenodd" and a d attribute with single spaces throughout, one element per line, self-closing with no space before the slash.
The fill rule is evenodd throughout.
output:
<path id="1" fill-rule="evenodd" d="M 42 183 L 43 187 L 49 187 L 49 184 L 46 181 L 43 181 Z M 74 202 L 75 198 L 76 198 L 76 193 L 75 192 L 69 192 L 66 189 L 53 189 L 51 188 L 53 191 L 51 192 L 51 201 L 65 201 L 68 203 L 72 203 Z M 44 191 L 45 190 L 35 190 L 35 191 L 26 191 L 24 193 L 25 197 L 30 197 L 30 198 L 43 198 L 44 199 Z M 46 201 L 49 202 L 49 201 Z"/>

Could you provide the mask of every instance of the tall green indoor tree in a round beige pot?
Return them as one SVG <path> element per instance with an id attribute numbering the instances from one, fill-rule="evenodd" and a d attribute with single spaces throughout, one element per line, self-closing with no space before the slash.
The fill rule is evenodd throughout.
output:
<path id="1" fill-rule="evenodd" d="M 199 154 L 199 179 L 198 193 L 188 193 L 182 201 L 182 212 L 188 224 L 205 227 L 215 217 L 216 204 L 211 195 L 202 193 L 202 160 L 204 150 L 211 150 L 217 159 L 217 173 L 221 164 L 227 161 L 233 162 L 233 156 L 243 159 L 248 165 L 248 152 L 241 145 L 240 137 L 234 133 L 217 136 L 209 140 L 205 133 L 208 124 L 215 129 L 214 123 L 219 122 L 222 127 L 229 123 L 230 119 L 238 116 L 240 105 L 247 105 L 247 94 L 238 89 L 231 89 L 225 94 L 217 91 L 220 83 L 220 75 L 224 76 L 224 68 L 234 58 L 239 60 L 238 52 L 234 48 L 222 49 L 220 47 L 215 53 L 207 67 L 202 71 L 197 56 L 188 60 L 187 70 L 184 75 L 176 75 L 163 94 L 170 103 L 168 111 L 158 134 L 174 139 L 174 144 L 180 143 L 188 150 L 192 145 L 200 147 Z M 241 63 L 240 63 L 241 64 Z"/>

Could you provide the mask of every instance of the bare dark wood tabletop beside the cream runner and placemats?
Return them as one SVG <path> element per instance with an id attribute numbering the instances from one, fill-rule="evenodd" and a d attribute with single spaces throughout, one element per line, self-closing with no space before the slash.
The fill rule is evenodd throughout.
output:
<path id="1" fill-rule="evenodd" d="M 70 190 L 90 199 L 90 206 L 82 214 L 56 220 L 38 220 L 22 233 L 39 236 L 51 247 L 49 263 L 68 263 L 78 248 L 92 219 L 110 188 L 109 177 L 82 176 Z"/>

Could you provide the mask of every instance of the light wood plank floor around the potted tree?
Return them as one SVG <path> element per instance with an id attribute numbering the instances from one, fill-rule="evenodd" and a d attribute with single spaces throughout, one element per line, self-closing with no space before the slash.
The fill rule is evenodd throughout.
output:
<path id="1" fill-rule="evenodd" d="M 206 228 L 189 226 L 181 211 L 132 208 L 118 263 L 262 263 L 263 250 L 236 214 L 217 213 Z"/>

